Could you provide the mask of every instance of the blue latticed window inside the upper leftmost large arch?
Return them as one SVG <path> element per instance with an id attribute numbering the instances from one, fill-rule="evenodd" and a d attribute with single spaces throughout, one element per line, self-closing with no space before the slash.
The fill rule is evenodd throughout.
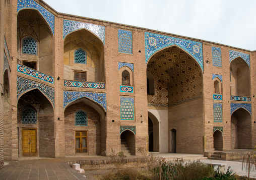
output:
<path id="1" fill-rule="evenodd" d="M 32 37 L 28 37 L 28 38 L 23 39 L 22 53 L 23 54 L 37 55 L 37 41 Z"/>

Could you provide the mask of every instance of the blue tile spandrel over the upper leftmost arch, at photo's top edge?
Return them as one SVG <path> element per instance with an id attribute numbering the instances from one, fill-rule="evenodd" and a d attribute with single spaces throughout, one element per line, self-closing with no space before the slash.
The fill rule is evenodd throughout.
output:
<path id="1" fill-rule="evenodd" d="M 18 0 L 17 12 L 19 12 L 23 8 L 31 8 L 31 9 L 38 10 L 40 14 L 43 16 L 43 18 L 45 19 L 45 21 L 50 26 L 52 34 L 54 35 L 54 15 L 52 15 L 50 12 L 48 12 L 41 5 L 37 4 L 33 0 Z"/>

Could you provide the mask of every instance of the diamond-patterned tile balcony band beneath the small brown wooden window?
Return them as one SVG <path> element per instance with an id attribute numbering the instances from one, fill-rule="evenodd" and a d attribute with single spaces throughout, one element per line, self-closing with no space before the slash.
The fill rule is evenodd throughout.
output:
<path id="1" fill-rule="evenodd" d="M 66 80 L 64 80 L 64 86 L 80 87 L 80 88 L 105 89 L 105 84 L 104 83 L 92 83 L 92 82 L 80 82 L 80 81 L 66 81 Z"/>

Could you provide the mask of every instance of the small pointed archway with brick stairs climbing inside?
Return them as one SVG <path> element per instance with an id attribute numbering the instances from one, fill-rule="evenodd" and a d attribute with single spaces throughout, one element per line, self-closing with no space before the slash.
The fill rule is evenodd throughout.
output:
<path id="1" fill-rule="evenodd" d="M 136 143 L 135 134 L 130 130 L 125 130 L 120 134 L 121 151 L 125 155 L 135 155 Z"/>

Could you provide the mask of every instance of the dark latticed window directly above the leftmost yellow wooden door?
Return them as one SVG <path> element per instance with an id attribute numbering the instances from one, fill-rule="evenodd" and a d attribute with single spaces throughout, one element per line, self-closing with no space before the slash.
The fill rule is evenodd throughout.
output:
<path id="1" fill-rule="evenodd" d="M 21 112 L 22 124 L 37 124 L 37 112 L 32 106 L 25 107 Z"/>

